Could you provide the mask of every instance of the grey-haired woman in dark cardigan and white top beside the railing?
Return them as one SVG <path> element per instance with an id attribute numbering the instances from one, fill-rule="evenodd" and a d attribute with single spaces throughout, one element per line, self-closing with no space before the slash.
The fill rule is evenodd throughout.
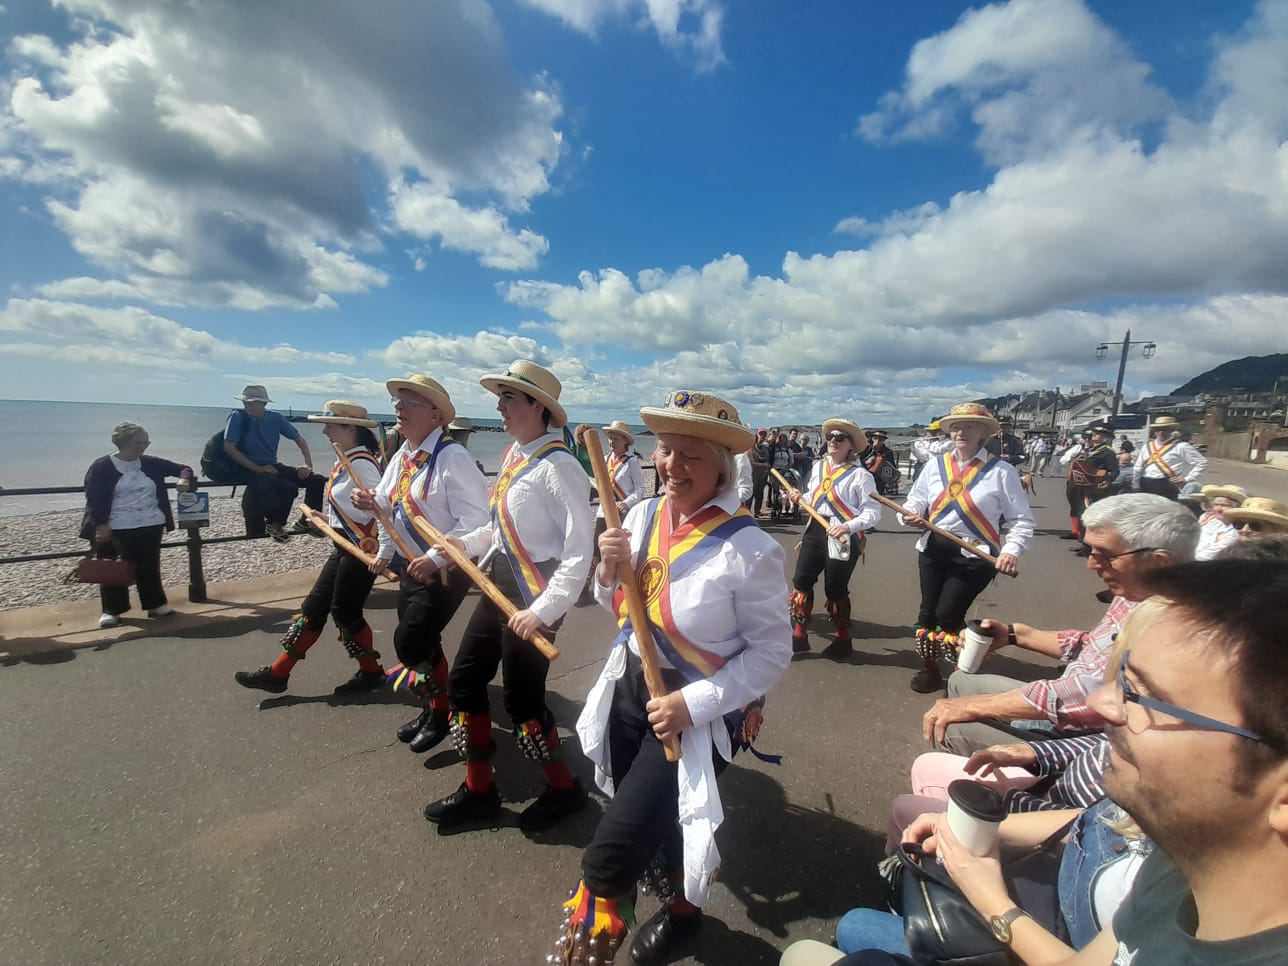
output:
<path id="1" fill-rule="evenodd" d="M 134 564 L 139 605 L 148 617 L 166 617 L 174 608 L 161 586 L 161 535 L 174 529 L 167 477 L 192 479 L 192 469 L 158 456 L 144 456 L 151 444 L 148 431 L 137 422 L 117 422 L 112 428 L 116 452 L 100 456 L 85 473 L 85 516 L 81 538 L 90 541 L 98 556 L 117 556 Z M 129 587 L 99 585 L 103 616 L 99 627 L 116 627 L 130 609 Z"/>

